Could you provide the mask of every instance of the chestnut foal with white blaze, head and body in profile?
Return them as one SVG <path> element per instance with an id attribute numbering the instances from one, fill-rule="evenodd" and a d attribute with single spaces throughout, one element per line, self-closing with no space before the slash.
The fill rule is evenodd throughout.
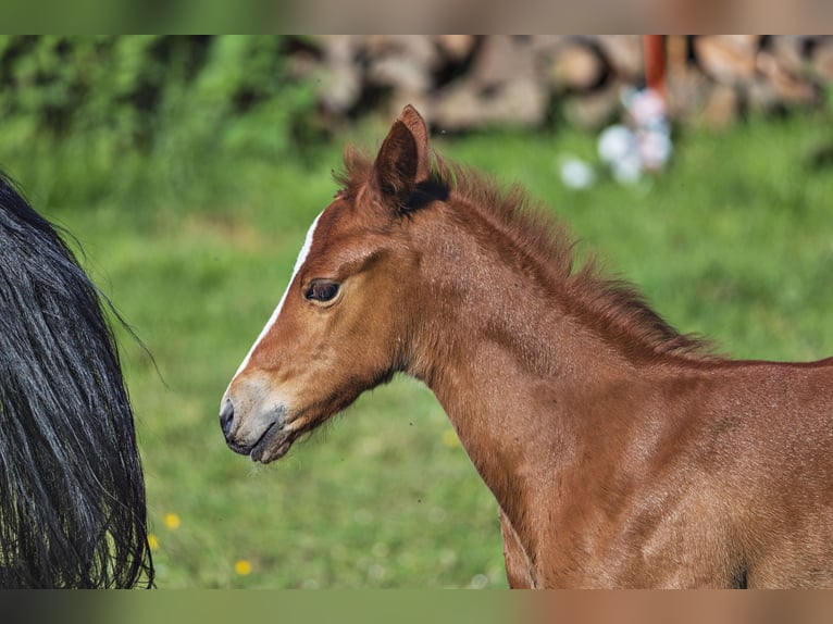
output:
<path id="1" fill-rule="evenodd" d="M 346 164 L 224 397 L 234 450 L 282 457 L 402 371 L 495 495 L 512 587 L 833 586 L 833 360 L 711 355 L 432 161 L 410 107 Z"/>

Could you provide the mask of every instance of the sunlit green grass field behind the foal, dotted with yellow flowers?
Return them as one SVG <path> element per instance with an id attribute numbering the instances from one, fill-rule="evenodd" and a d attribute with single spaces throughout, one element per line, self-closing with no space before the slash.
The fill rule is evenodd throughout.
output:
<path id="1" fill-rule="evenodd" d="M 682 133 L 666 174 L 586 191 L 557 175 L 573 133 L 442 136 L 442 153 L 519 182 L 676 327 L 738 358 L 833 354 L 829 117 Z M 369 147 L 385 127 L 352 132 Z M 86 192 L 80 143 L 3 154 L 38 210 L 152 352 L 120 332 L 147 476 L 157 584 L 181 587 L 505 587 L 497 509 L 428 390 L 397 378 L 289 455 L 233 454 L 220 398 L 335 190 L 341 141 L 310 158 L 148 159 Z M 49 165 L 45 159 L 49 160 Z M 80 164 L 77 159 L 82 159 Z M 815 163 L 815 164 L 813 164 Z"/>

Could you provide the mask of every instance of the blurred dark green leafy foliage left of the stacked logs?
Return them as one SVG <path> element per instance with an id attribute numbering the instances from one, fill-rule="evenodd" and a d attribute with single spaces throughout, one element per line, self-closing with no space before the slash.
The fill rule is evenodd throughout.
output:
<path id="1" fill-rule="evenodd" d="M 303 45 L 286 36 L 2 36 L 0 164 L 50 158 L 76 185 L 95 187 L 116 172 L 125 184 L 148 166 L 176 180 L 219 154 L 302 150 L 323 132 L 312 80 L 285 53 Z"/>

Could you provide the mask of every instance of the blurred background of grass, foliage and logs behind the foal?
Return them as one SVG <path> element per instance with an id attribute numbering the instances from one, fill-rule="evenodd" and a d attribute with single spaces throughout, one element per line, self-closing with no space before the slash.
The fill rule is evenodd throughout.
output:
<path id="1" fill-rule="evenodd" d="M 496 503 L 396 378 L 256 466 L 220 398 L 337 190 L 405 103 L 544 200 L 683 332 L 833 354 L 833 37 L 0 37 L 0 166 L 119 329 L 157 585 L 505 587 Z"/>

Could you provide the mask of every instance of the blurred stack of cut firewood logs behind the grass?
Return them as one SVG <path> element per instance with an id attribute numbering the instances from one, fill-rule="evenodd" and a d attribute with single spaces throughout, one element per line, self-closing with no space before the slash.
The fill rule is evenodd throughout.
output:
<path id="1" fill-rule="evenodd" d="M 395 114 L 410 102 L 437 127 L 600 128 L 644 86 L 639 36 L 326 36 L 313 39 L 323 110 L 333 120 Z M 831 36 L 669 36 L 669 114 L 720 126 L 754 110 L 824 105 Z"/>

